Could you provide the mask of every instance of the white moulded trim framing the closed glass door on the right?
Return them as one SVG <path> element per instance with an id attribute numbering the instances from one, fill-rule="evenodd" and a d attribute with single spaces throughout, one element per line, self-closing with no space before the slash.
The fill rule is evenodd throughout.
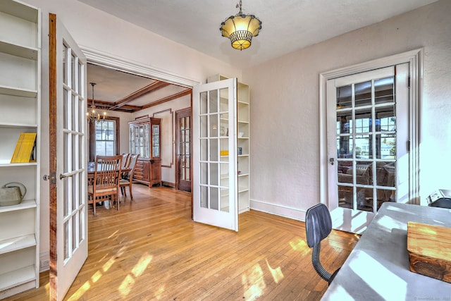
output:
<path id="1" fill-rule="evenodd" d="M 420 204 L 419 197 L 419 103 L 423 87 L 423 49 L 367 61 L 319 74 L 319 199 L 328 205 L 328 152 L 327 152 L 327 80 L 340 78 L 378 68 L 409 63 L 409 203 Z"/>

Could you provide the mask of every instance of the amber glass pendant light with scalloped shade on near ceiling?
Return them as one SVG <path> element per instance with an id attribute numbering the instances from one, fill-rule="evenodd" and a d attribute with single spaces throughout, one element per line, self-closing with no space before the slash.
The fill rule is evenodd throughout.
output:
<path id="1" fill-rule="evenodd" d="M 240 11 L 235 16 L 228 17 L 221 23 L 221 33 L 223 37 L 228 37 L 235 49 L 246 49 L 251 46 L 252 37 L 257 37 L 261 30 L 261 21 L 254 15 L 245 15 L 242 13 L 242 3 L 237 4 L 236 8 Z"/>

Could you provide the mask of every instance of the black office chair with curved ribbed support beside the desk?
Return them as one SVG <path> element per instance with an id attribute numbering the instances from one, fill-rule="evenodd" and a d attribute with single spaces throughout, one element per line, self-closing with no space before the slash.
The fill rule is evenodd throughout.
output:
<path id="1" fill-rule="evenodd" d="M 337 269 L 333 274 L 330 274 L 319 261 L 321 240 L 327 238 L 330 231 L 332 231 L 332 219 L 330 219 L 330 213 L 326 205 L 316 204 L 314 207 L 309 208 L 307 214 L 305 214 L 305 234 L 307 236 L 307 245 L 313 247 L 311 263 L 316 273 L 327 281 L 328 285 L 330 285 L 338 270 L 340 270 Z"/>

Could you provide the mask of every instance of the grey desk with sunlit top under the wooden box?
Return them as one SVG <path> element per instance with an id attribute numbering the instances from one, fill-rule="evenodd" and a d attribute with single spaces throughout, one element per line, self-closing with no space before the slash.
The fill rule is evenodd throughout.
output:
<path id="1" fill-rule="evenodd" d="M 451 300 L 451 283 L 409 270 L 407 221 L 451 227 L 451 210 L 385 202 L 321 300 Z"/>

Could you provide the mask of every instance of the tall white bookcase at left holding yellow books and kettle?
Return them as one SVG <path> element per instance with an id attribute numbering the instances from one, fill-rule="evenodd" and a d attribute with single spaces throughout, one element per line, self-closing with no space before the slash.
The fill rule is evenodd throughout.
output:
<path id="1" fill-rule="evenodd" d="M 41 12 L 0 1 L 0 187 L 27 188 L 18 205 L 0 207 L 0 299 L 39 287 Z M 11 164 L 20 133 L 37 133 L 36 161 Z"/>

